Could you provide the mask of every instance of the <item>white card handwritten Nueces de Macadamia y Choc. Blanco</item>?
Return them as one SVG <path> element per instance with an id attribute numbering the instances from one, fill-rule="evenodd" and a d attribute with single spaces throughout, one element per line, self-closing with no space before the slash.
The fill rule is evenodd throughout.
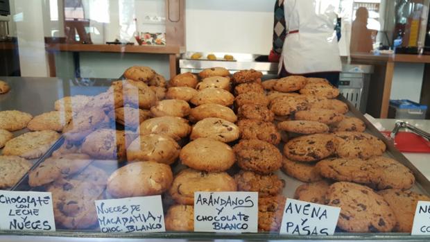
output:
<path id="1" fill-rule="evenodd" d="M 96 200 L 102 233 L 165 232 L 161 196 Z"/>

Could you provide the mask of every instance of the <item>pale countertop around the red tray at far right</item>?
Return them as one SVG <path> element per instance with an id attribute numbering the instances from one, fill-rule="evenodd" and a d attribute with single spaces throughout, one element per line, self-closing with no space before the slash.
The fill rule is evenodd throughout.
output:
<path id="1" fill-rule="evenodd" d="M 377 119 L 386 130 L 393 130 L 396 121 L 405 121 L 426 132 L 430 132 L 430 120 L 422 119 Z M 402 130 L 407 131 L 407 130 Z M 430 153 L 402 153 L 430 180 Z"/>

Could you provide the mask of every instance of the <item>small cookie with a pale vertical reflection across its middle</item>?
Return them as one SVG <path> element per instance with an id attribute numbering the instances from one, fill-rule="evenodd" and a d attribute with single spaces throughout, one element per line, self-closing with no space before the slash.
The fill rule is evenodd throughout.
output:
<path id="1" fill-rule="evenodd" d="M 110 111 L 107 116 L 126 128 L 137 128 L 141 122 L 150 118 L 151 113 L 135 107 L 119 107 Z"/>

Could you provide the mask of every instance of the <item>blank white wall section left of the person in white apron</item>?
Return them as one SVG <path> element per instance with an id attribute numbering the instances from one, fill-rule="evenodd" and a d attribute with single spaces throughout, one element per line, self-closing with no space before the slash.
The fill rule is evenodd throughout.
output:
<path id="1" fill-rule="evenodd" d="M 187 0 L 187 51 L 268 55 L 274 6 L 275 0 Z"/>

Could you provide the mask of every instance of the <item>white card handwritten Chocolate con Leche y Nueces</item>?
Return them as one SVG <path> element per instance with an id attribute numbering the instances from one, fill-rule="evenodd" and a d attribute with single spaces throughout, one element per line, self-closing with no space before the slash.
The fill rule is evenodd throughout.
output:
<path id="1" fill-rule="evenodd" d="M 1 230 L 55 231 L 48 192 L 0 191 Z"/>

